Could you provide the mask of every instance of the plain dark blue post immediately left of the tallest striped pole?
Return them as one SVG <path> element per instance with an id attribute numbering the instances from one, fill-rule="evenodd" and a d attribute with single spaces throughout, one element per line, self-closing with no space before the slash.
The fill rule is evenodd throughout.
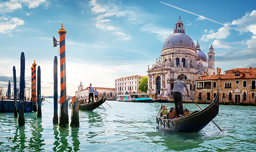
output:
<path id="1" fill-rule="evenodd" d="M 53 114 L 53 124 L 58 124 L 58 60 L 57 60 L 57 56 L 54 56 L 54 61 L 53 61 L 53 79 L 54 79 L 54 95 L 53 95 L 53 99 L 54 99 L 54 114 Z"/>

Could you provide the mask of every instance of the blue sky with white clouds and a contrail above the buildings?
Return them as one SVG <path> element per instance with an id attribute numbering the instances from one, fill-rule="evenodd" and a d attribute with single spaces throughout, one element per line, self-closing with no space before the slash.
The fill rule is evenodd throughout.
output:
<path id="1" fill-rule="evenodd" d="M 34 60 L 41 67 L 42 95 L 53 96 L 53 47 L 66 34 L 67 94 L 77 86 L 114 88 L 114 80 L 147 75 L 179 16 L 206 55 L 213 45 L 215 70 L 256 67 L 255 0 L 0 0 L 0 86 L 13 88 L 20 55 L 26 57 L 26 87 Z M 60 85 L 58 79 L 58 86 Z M 19 81 L 17 81 L 19 86 Z M 58 94 L 60 94 L 60 88 Z"/>

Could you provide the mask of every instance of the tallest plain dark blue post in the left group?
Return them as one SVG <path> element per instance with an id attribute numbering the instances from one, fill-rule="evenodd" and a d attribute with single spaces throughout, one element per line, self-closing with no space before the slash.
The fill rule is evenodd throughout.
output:
<path id="1" fill-rule="evenodd" d="M 25 92 L 25 55 L 24 52 L 21 53 L 20 56 L 20 80 L 19 80 L 19 88 L 20 88 L 20 95 L 19 95 L 19 119 L 18 124 L 24 125 L 25 118 L 24 118 L 24 92 Z"/>

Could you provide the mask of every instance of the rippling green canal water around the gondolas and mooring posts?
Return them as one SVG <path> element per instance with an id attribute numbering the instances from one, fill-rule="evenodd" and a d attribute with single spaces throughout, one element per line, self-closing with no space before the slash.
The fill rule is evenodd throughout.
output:
<path id="1" fill-rule="evenodd" d="M 53 99 L 42 104 L 42 118 L 25 113 L 18 126 L 13 113 L 0 113 L 1 152 L 255 152 L 256 107 L 220 105 L 219 114 L 197 133 L 158 130 L 161 103 L 107 101 L 104 108 L 79 111 L 80 127 L 53 125 Z M 165 103 L 170 108 L 173 103 Z M 205 108 L 208 105 L 200 105 Z M 195 104 L 184 104 L 191 112 Z M 69 110 L 71 117 L 71 109 Z M 71 121 L 71 119 L 70 119 Z"/>

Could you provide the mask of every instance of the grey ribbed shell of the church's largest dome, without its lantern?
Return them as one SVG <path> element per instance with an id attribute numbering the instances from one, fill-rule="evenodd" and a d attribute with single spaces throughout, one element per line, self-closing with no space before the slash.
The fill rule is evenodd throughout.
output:
<path id="1" fill-rule="evenodd" d="M 185 33 L 173 33 L 163 44 L 163 49 L 170 47 L 187 47 L 196 50 L 194 41 Z"/>

